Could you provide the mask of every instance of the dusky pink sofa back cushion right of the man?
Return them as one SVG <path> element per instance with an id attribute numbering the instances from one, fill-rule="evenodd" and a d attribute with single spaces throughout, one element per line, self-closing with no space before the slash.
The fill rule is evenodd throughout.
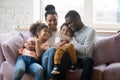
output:
<path id="1" fill-rule="evenodd" d="M 120 33 L 95 42 L 93 59 L 95 65 L 120 62 Z"/>

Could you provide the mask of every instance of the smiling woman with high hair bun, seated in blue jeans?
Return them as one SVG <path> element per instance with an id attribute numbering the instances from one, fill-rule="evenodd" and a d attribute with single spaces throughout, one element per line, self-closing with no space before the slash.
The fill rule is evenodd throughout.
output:
<path id="1" fill-rule="evenodd" d="M 52 4 L 48 4 L 45 7 L 45 22 L 47 23 L 51 31 L 51 36 L 48 40 L 50 48 L 44 52 L 41 61 L 45 73 L 45 78 L 47 78 L 48 80 L 53 80 L 54 75 L 51 74 L 51 71 L 53 69 L 53 58 L 56 51 L 53 46 L 55 44 L 55 37 L 59 35 L 59 32 L 57 31 L 58 14 L 56 12 L 55 6 Z M 27 43 L 24 46 L 26 48 L 32 48 L 32 46 Z M 55 76 L 55 78 L 56 77 L 57 76 Z"/>

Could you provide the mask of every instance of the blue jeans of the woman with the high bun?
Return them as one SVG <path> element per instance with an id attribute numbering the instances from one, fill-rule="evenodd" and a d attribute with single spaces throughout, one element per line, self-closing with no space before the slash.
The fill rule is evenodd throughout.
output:
<path id="1" fill-rule="evenodd" d="M 56 51 L 56 48 L 51 47 L 43 53 L 42 58 L 41 58 L 43 70 L 45 72 L 45 77 L 47 76 L 47 78 L 53 78 L 54 77 L 51 74 L 51 71 L 52 71 L 53 65 L 54 65 L 55 51 Z"/>

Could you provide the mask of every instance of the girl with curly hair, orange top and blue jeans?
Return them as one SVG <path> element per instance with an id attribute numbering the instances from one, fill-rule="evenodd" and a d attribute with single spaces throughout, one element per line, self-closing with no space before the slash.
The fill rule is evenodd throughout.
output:
<path id="1" fill-rule="evenodd" d="M 37 22 L 30 27 L 30 32 L 34 37 L 28 39 L 27 43 L 30 43 L 34 49 L 19 49 L 21 55 L 15 65 L 13 80 L 21 80 L 27 71 L 35 75 L 35 80 L 44 80 L 39 58 L 49 48 L 49 44 L 46 42 L 50 37 L 49 28 L 44 23 Z"/>

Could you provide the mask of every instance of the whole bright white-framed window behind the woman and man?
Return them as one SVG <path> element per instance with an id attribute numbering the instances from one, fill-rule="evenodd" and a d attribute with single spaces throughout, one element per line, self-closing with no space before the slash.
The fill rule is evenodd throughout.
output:
<path id="1" fill-rule="evenodd" d="M 40 19 L 44 20 L 45 6 L 55 5 L 58 26 L 64 22 L 65 14 L 71 10 L 80 13 L 82 21 L 96 30 L 120 30 L 120 0 L 40 0 Z"/>

